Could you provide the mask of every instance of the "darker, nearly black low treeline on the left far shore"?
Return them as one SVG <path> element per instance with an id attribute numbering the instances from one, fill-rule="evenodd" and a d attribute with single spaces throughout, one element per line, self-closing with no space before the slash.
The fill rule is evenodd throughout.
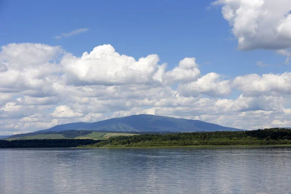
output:
<path id="1" fill-rule="evenodd" d="M 50 148 L 77 147 L 93 145 L 102 140 L 92 139 L 33 139 L 33 140 L 0 140 L 0 148 Z"/>

